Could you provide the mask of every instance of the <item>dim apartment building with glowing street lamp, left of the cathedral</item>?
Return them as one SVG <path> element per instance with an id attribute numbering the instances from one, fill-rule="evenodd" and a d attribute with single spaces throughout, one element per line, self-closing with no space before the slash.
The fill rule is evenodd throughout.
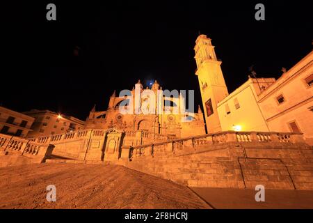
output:
<path id="1" fill-rule="evenodd" d="M 24 112 L 35 118 L 32 132 L 29 132 L 28 137 L 38 137 L 41 135 L 61 134 L 74 130 L 83 129 L 84 121 L 72 116 L 62 116 L 49 110 L 32 109 L 29 112 Z"/>

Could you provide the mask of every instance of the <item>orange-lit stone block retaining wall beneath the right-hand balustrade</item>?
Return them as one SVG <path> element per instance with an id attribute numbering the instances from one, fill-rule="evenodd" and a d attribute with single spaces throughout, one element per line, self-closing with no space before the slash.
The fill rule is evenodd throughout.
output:
<path id="1" fill-rule="evenodd" d="M 120 164 L 189 187 L 313 190 L 313 150 L 301 143 L 182 146 L 172 153 L 145 152 Z"/>

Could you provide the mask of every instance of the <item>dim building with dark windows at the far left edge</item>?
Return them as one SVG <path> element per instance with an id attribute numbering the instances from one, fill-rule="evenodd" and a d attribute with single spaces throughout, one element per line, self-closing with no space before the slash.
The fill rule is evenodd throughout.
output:
<path id="1" fill-rule="evenodd" d="M 26 137 L 35 118 L 0 107 L 0 133 Z"/>

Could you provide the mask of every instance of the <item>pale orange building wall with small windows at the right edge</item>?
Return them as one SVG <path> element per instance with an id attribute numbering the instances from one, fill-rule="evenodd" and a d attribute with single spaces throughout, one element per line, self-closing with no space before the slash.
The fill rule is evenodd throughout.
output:
<path id="1" fill-rule="evenodd" d="M 313 52 L 259 95 L 271 131 L 303 132 L 313 144 Z"/>

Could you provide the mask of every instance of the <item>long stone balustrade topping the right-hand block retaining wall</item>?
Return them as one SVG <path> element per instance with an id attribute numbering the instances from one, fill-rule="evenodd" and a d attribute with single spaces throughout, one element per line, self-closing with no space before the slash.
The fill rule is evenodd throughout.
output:
<path id="1" fill-rule="evenodd" d="M 204 145 L 216 144 L 245 144 L 245 143 L 271 143 L 271 144 L 295 144 L 305 143 L 302 133 L 294 132 L 217 132 L 203 134 L 183 139 L 173 139 L 165 142 L 146 144 L 141 146 L 124 146 L 122 158 L 132 160 L 136 157 L 165 155 L 175 153 L 183 148 L 195 148 Z"/>

